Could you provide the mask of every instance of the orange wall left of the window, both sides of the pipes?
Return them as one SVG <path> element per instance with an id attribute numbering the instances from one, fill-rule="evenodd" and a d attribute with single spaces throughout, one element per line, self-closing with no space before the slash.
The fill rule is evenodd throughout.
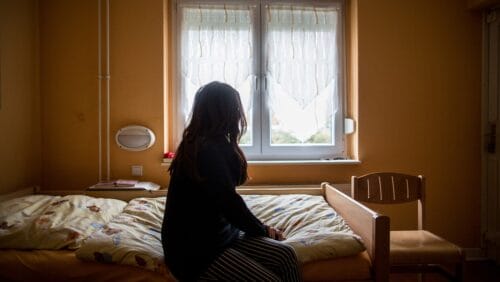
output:
<path id="1" fill-rule="evenodd" d="M 102 1 L 103 3 L 105 1 Z M 163 152 L 162 1 L 110 1 L 110 177 L 130 178 L 143 165 L 148 181 L 166 185 Z M 104 7 L 102 8 L 104 14 Z M 84 189 L 99 180 L 97 1 L 40 3 L 43 96 L 43 187 Z M 105 34 L 105 22 L 102 25 Z M 106 52 L 103 38 L 103 54 Z M 103 57 L 103 74 L 105 61 Z M 106 172 L 106 82 L 102 84 L 103 159 Z M 151 128 L 156 144 L 145 152 L 115 145 L 122 126 Z"/>

